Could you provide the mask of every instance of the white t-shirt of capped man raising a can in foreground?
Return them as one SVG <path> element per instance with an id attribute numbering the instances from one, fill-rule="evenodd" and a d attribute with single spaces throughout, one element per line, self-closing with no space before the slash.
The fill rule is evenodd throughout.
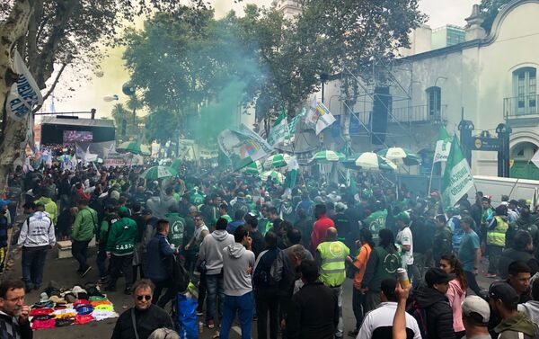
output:
<path id="1" fill-rule="evenodd" d="M 393 317 L 397 310 L 397 303 L 394 301 L 383 302 L 378 308 L 367 313 L 361 328 L 359 328 L 357 339 L 373 338 L 373 332 L 378 327 L 392 327 Z M 406 313 L 406 328 L 413 331 L 413 339 L 421 339 L 420 326 L 414 317 Z M 376 339 L 376 338 L 374 338 Z"/>

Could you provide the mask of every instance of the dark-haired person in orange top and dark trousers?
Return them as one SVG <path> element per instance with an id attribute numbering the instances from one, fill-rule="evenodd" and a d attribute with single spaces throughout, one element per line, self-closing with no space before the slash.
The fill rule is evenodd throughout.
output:
<path id="1" fill-rule="evenodd" d="M 373 234 L 368 228 L 362 228 L 359 232 L 359 240 L 356 241 L 356 245 L 359 247 L 358 256 L 354 260 L 354 287 L 352 288 L 352 309 L 354 310 L 354 317 L 356 317 L 356 328 L 349 332 L 349 336 L 356 337 L 359 332 L 359 327 L 363 322 L 365 313 L 363 312 L 363 304 L 365 302 L 365 293 L 361 291 L 361 281 L 367 268 L 368 258 L 375 248 L 373 242 Z"/>

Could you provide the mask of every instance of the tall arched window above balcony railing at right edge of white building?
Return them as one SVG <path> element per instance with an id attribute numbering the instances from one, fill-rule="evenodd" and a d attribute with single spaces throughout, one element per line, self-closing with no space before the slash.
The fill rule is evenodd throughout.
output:
<path id="1" fill-rule="evenodd" d="M 534 67 L 518 68 L 513 72 L 515 109 L 517 115 L 537 113 L 537 78 Z"/>

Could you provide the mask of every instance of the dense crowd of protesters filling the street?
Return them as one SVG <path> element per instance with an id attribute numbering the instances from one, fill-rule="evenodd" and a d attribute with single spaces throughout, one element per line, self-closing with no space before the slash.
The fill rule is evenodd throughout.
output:
<path id="1" fill-rule="evenodd" d="M 406 293 L 408 337 L 488 337 L 467 326 L 485 326 L 492 337 L 538 335 L 530 319 L 539 317 L 539 282 L 530 281 L 539 271 L 539 209 L 527 201 L 504 196 L 492 207 L 477 192 L 473 204 L 464 196 L 443 210 L 437 192 L 395 192 L 376 174 L 358 174 L 353 185 L 304 174 L 285 187 L 187 162 L 165 179 L 142 178 L 145 166 L 25 169 L 9 174 L 8 186 L 12 201 L 23 192 L 28 214 L 13 243 L 26 292 L 40 289 L 47 248 L 71 239 L 78 274 L 96 267 L 104 290 L 121 286 L 143 313 L 168 309 L 182 292 L 171 269 L 181 263 L 198 285 L 198 315 L 223 338 L 236 314 L 243 338 L 253 319 L 261 339 L 342 338 L 343 303 L 356 320 L 348 335 L 391 337 L 399 268 L 415 286 Z M 12 223 L 10 203 L 0 203 L 0 228 Z M 489 290 L 476 281 L 482 261 L 485 276 L 499 279 Z M 347 277 L 351 300 L 342 298 Z M 471 295 L 489 300 L 488 315 Z M 120 317 L 113 337 L 132 337 L 130 322 Z"/>

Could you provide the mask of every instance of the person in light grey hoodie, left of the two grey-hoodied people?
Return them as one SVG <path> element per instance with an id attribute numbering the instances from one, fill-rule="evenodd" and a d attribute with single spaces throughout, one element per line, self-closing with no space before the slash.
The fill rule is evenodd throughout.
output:
<path id="1" fill-rule="evenodd" d="M 219 311 L 223 312 L 225 293 L 223 290 L 223 249 L 234 244 L 234 236 L 226 232 L 228 222 L 219 218 L 216 222 L 216 230 L 204 237 L 200 244 L 199 258 L 196 266 L 204 263 L 206 268 L 206 326 L 214 328 L 216 316 L 216 298 L 219 298 Z"/>

